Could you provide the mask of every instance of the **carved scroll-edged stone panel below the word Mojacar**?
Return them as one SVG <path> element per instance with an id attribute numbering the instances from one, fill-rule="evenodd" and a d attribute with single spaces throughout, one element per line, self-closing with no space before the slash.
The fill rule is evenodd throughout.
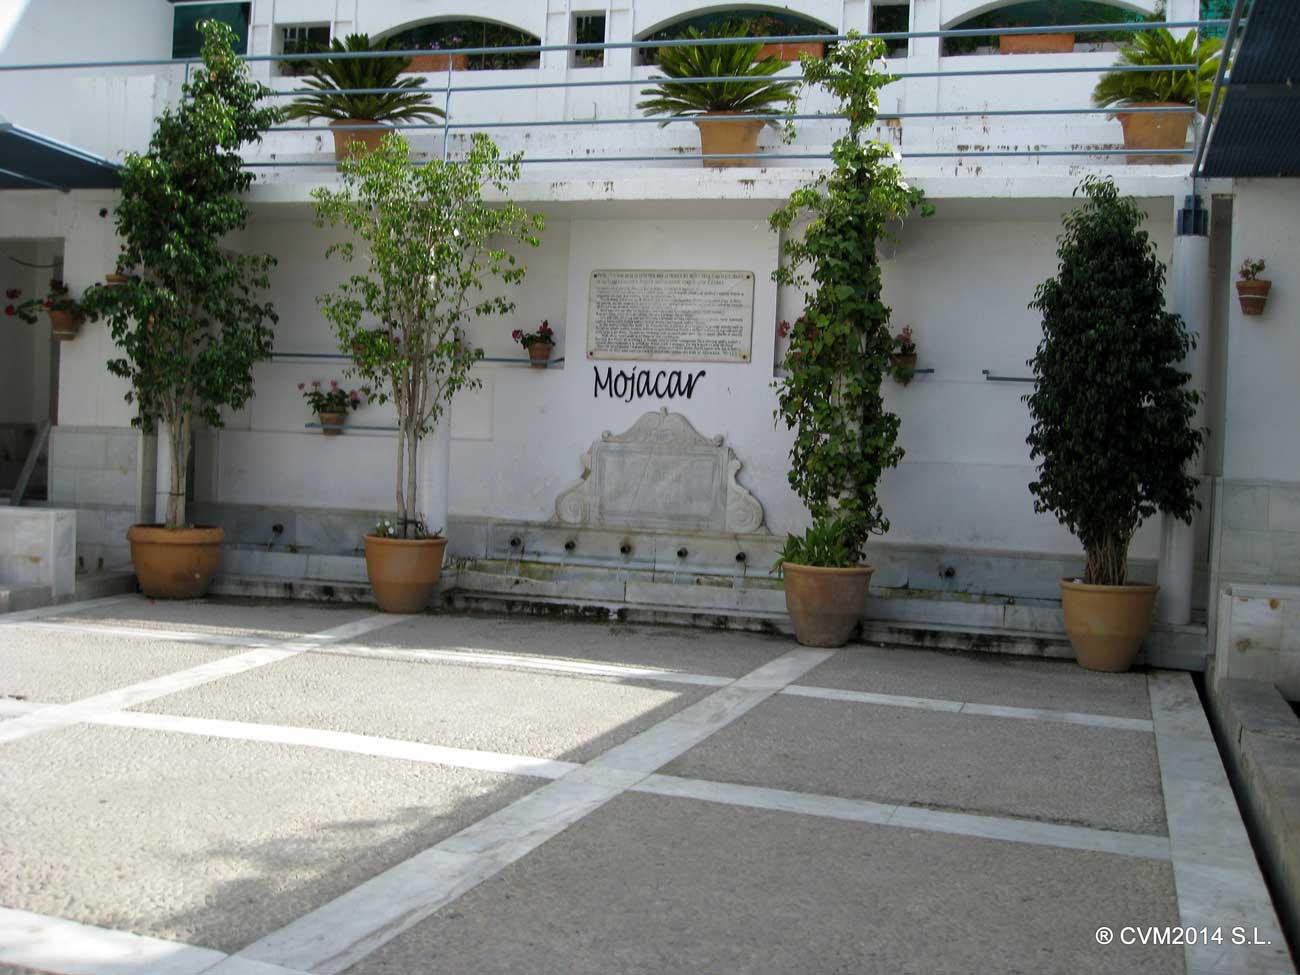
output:
<path id="1" fill-rule="evenodd" d="M 740 460 L 681 413 L 646 413 L 606 430 L 582 455 L 582 477 L 555 499 L 564 525 L 668 532 L 763 532 L 763 506 L 736 481 Z"/>

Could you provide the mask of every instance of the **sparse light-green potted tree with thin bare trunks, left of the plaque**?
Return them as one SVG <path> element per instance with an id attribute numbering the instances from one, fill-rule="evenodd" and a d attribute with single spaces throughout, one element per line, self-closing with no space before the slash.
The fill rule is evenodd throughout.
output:
<path id="1" fill-rule="evenodd" d="M 524 278 L 506 242 L 538 244 L 541 217 L 484 199 L 485 190 L 506 195 L 519 160 L 476 133 L 459 162 L 413 165 L 406 139 L 391 133 L 374 152 L 343 160 L 341 188 L 312 191 L 317 222 L 350 234 L 326 255 L 367 265 L 320 306 L 367 399 L 396 410 L 396 516 L 365 536 L 365 568 L 385 612 L 424 610 L 442 571 L 447 540 L 419 510 L 420 442 L 456 390 L 478 385 L 471 368 L 482 350 L 462 341 L 465 326 L 515 307 L 482 292 L 485 280 Z"/>

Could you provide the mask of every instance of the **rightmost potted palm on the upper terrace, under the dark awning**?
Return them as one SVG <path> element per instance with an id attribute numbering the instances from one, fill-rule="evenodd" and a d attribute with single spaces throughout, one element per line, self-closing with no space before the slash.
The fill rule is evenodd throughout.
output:
<path id="1" fill-rule="evenodd" d="M 1195 30 L 1184 38 L 1175 38 L 1165 27 L 1140 31 L 1119 52 L 1118 65 L 1195 64 L 1196 69 L 1108 72 L 1092 90 L 1092 104 L 1097 108 L 1191 108 L 1192 110 L 1115 112 L 1115 118 L 1123 127 L 1126 150 L 1180 150 L 1187 144 L 1192 117 L 1209 108 L 1222 49 L 1221 40 L 1199 38 Z M 1134 153 L 1128 156 L 1128 161 L 1167 165 L 1179 159 Z"/>

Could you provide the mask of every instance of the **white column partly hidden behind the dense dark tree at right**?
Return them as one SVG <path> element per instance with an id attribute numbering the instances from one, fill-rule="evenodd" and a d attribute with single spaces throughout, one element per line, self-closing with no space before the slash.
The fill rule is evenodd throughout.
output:
<path id="1" fill-rule="evenodd" d="M 1206 202 L 1208 207 L 1208 202 Z M 1180 208 L 1182 209 L 1182 208 Z M 1175 226 L 1174 237 L 1174 311 L 1183 316 L 1188 333 L 1197 342 L 1183 367 L 1191 373 L 1188 385 L 1201 394 L 1201 407 L 1192 422 L 1201 425 L 1205 415 L 1205 341 L 1210 330 L 1210 278 L 1209 213 L 1205 214 L 1206 233 L 1196 228 Z M 1193 473 L 1204 469 L 1204 459 L 1192 463 Z M 1156 601 L 1156 619 L 1162 623 L 1183 624 L 1192 619 L 1192 580 L 1196 569 L 1195 533 L 1192 525 L 1178 519 L 1161 517 L 1160 597 Z"/>

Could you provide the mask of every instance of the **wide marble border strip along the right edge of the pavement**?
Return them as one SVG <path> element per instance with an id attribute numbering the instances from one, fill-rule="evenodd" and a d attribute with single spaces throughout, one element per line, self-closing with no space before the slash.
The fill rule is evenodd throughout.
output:
<path id="1" fill-rule="evenodd" d="M 1200 696 L 1187 673 L 1147 676 L 1165 816 L 1184 927 L 1257 930 L 1269 945 L 1195 944 L 1188 972 L 1295 971 Z"/>

